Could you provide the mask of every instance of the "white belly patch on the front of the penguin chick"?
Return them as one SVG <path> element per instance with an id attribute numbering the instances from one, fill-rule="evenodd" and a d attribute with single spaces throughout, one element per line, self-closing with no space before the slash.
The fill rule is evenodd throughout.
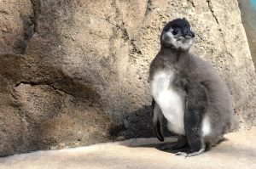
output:
<path id="1" fill-rule="evenodd" d="M 173 87 L 173 73 L 159 71 L 150 82 L 151 94 L 159 104 L 163 115 L 168 121 L 168 129 L 177 134 L 185 135 L 184 131 L 184 94 Z"/>

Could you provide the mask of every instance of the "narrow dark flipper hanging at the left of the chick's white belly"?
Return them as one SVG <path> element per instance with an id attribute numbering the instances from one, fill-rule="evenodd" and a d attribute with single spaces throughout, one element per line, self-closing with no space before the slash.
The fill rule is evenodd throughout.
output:
<path id="1" fill-rule="evenodd" d="M 163 113 L 162 110 L 160 110 L 160 106 L 155 103 L 154 99 L 152 100 L 151 104 L 153 110 L 154 110 L 154 118 L 153 118 L 153 123 L 154 123 L 154 133 L 156 137 L 163 142 L 165 140 L 164 135 L 163 135 Z"/>

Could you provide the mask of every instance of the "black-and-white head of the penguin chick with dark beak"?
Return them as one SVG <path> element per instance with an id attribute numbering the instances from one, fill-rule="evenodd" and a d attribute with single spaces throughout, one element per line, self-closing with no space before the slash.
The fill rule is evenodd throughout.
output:
<path id="1" fill-rule="evenodd" d="M 177 50 L 189 50 L 195 41 L 195 33 L 186 19 L 172 20 L 166 24 L 161 36 L 161 45 Z"/>

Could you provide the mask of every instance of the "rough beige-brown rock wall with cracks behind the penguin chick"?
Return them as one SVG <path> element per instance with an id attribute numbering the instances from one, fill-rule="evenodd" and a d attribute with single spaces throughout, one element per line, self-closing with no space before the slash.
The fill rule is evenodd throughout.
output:
<path id="1" fill-rule="evenodd" d="M 1 0 L 0 156 L 154 136 L 148 65 L 177 17 L 230 87 L 241 128 L 256 125 L 236 0 Z"/>

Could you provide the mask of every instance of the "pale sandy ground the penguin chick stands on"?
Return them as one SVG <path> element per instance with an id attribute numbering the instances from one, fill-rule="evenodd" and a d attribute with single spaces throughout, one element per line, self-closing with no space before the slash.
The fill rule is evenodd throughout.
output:
<path id="1" fill-rule="evenodd" d="M 119 143 L 96 144 L 87 147 L 44 150 L 0 159 L 1 169 L 63 169 L 63 168 L 255 168 L 256 127 L 234 132 L 226 141 L 202 155 L 184 158 L 155 147 L 156 138 L 137 138 Z M 176 138 L 168 138 L 168 142 Z"/>

